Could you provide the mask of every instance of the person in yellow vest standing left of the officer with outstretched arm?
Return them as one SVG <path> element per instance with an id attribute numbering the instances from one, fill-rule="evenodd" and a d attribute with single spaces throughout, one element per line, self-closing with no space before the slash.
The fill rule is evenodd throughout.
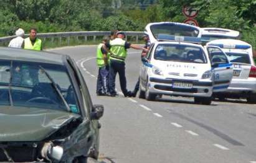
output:
<path id="1" fill-rule="evenodd" d="M 97 65 L 98 65 L 98 77 L 97 77 L 97 95 L 110 95 L 108 92 L 108 56 L 107 51 L 104 50 L 103 45 L 109 42 L 109 37 L 103 37 L 102 43 L 97 47 Z"/>

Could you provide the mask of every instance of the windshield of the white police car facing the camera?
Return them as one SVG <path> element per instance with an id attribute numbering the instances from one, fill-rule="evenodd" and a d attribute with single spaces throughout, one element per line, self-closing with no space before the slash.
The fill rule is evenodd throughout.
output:
<path id="1" fill-rule="evenodd" d="M 159 44 L 154 51 L 154 59 L 188 63 L 207 63 L 202 48 L 180 44 Z"/>

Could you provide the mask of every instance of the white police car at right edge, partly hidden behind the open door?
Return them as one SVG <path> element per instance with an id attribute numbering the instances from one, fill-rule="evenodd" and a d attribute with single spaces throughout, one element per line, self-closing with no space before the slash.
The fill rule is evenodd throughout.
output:
<path id="1" fill-rule="evenodd" d="M 234 67 L 234 75 L 229 88 L 216 94 L 219 99 L 225 97 L 246 98 L 256 103 L 256 66 L 249 43 L 233 39 L 214 40 L 207 45 L 219 46 L 226 53 Z"/>

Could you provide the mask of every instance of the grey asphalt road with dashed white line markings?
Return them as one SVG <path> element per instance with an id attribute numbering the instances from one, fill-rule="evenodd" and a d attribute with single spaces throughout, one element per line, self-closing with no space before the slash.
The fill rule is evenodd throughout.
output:
<path id="1" fill-rule="evenodd" d="M 113 162 L 250 162 L 256 163 L 256 105 L 244 100 L 195 105 L 192 98 L 143 99 L 97 97 L 96 46 L 52 50 L 70 55 L 82 69 L 94 104 L 105 114 L 100 155 Z M 126 59 L 128 89 L 139 76 L 140 51 Z M 118 81 L 118 77 L 116 78 Z M 116 89 L 120 91 L 119 82 Z"/>

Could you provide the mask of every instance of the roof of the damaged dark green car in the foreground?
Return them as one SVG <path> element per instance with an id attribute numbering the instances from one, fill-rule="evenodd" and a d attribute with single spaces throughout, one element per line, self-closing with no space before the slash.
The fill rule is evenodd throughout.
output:
<path id="1" fill-rule="evenodd" d="M 0 47 L 0 59 L 32 61 L 38 63 L 64 64 L 64 55 L 46 51 L 23 50 L 19 48 Z"/>

